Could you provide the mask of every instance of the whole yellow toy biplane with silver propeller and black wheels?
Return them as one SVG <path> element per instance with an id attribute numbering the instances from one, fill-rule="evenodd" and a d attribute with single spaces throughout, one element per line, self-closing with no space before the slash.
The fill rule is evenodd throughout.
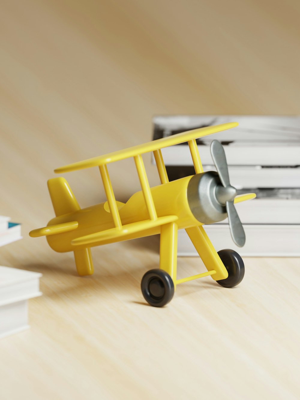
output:
<path id="1" fill-rule="evenodd" d="M 216 252 L 202 225 L 229 220 L 232 239 L 238 246 L 245 243 L 245 233 L 234 203 L 249 200 L 255 194 L 236 196 L 230 185 L 228 167 L 222 145 L 211 144 L 217 172 L 203 172 L 196 138 L 234 128 L 236 122 L 194 129 L 167 138 L 119 150 L 104 156 L 70 164 L 55 170 L 69 172 L 99 167 L 107 201 L 81 209 L 64 178 L 48 180 L 48 189 L 56 217 L 48 226 L 30 232 L 30 236 L 46 236 L 57 252 L 73 251 L 79 275 L 94 271 L 90 248 L 122 240 L 160 233 L 160 268 L 142 278 L 142 294 L 152 306 L 162 307 L 174 295 L 176 285 L 189 280 L 212 276 L 218 284 L 232 287 L 244 276 L 244 263 L 233 250 Z M 161 149 L 188 142 L 195 175 L 168 181 Z M 153 152 L 161 184 L 150 188 L 142 154 Z M 142 190 L 124 204 L 116 201 L 107 164 L 133 157 Z M 185 229 L 204 262 L 207 272 L 177 279 L 177 231 Z"/>

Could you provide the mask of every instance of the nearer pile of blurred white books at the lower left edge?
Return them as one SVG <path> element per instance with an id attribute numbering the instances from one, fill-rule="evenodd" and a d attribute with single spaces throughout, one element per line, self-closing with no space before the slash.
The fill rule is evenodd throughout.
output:
<path id="1" fill-rule="evenodd" d="M 28 299 L 40 296 L 42 274 L 0 266 L 0 338 L 29 328 Z"/>

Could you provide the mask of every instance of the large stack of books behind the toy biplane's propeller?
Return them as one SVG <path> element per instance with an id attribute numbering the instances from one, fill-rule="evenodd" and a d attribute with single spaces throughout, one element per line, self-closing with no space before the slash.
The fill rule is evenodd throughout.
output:
<path id="1" fill-rule="evenodd" d="M 216 250 L 232 248 L 242 256 L 300 256 L 300 117 L 157 116 L 153 138 L 234 121 L 237 128 L 196 142 L 204 171 L 216 170 L 210 143 L 217 139 L 225 150 L 230 183 L 238 194 L 256 193 L 256 199 L 236 204 L 246 244 L 235 246 L 227 219 L 204 229 Z M 187 144 L 162 149 L 162 156 L 169 180 L 195 173 Z M 178 255 L 197 255 L 184 230 L 178 232 Z"/>

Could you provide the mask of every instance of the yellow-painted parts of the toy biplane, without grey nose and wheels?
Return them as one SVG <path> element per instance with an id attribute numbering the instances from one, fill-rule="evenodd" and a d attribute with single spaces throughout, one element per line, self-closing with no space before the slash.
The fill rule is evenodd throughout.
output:
<path id="1" fill-rule="evenodd" d="M 187 187 L 192 176 L 169 182 L 161 148 L 188 142 L 196 174 L 203 172 L 196 138 L 233 128 L 235 122 L 210 126 L 158 139 L 146 144 L 119 150 L 64 166 L 55 172 L 68 172 L 98 166 L 107 201 L 81 209 L 64 178 L 48 181 L 56 217 L 48 226 L 35 229 L 30 236 L 46 236 L 57 252 L 73 251 L 79 275 L 90 275 L 94 267 L 90 248 L 122 240 L 160 234 L 160 268 L 168 272 L 174 286 L 189 280 L 212 276 L 214 280 L 228 277 L 228 272 L 212 246 L 201 221 L 190 210 Z M 153 152 L 161 184 L 150 188 L 142 154 Z M 141 184 L 139 192 L 126 203 L 116 201 L 106 164 L 133 157 Z M 237 196 L 235 203 L 254 198 L 255 194 Z M 186 229 L 202 258 L 207 272 L 177 280 L 177 233 Z"/>

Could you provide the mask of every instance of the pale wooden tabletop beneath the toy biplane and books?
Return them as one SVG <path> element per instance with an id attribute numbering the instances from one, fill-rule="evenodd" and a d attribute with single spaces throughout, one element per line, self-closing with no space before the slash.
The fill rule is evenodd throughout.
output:
<path id="1" fill-rule="evenodd" d="M 43 296 L 31 329 L 0 341 L 0 398 L 298 398 L 299 260 L 247 258 L 240 286 L 202 278 L 153 308 L 140 280 L 158 242 L 95 248 L 86 278 L 43 239 L 1 249 L 6 265 L 42 272 Z M 179 277 L 204 269 L 178 260 Z"/>

